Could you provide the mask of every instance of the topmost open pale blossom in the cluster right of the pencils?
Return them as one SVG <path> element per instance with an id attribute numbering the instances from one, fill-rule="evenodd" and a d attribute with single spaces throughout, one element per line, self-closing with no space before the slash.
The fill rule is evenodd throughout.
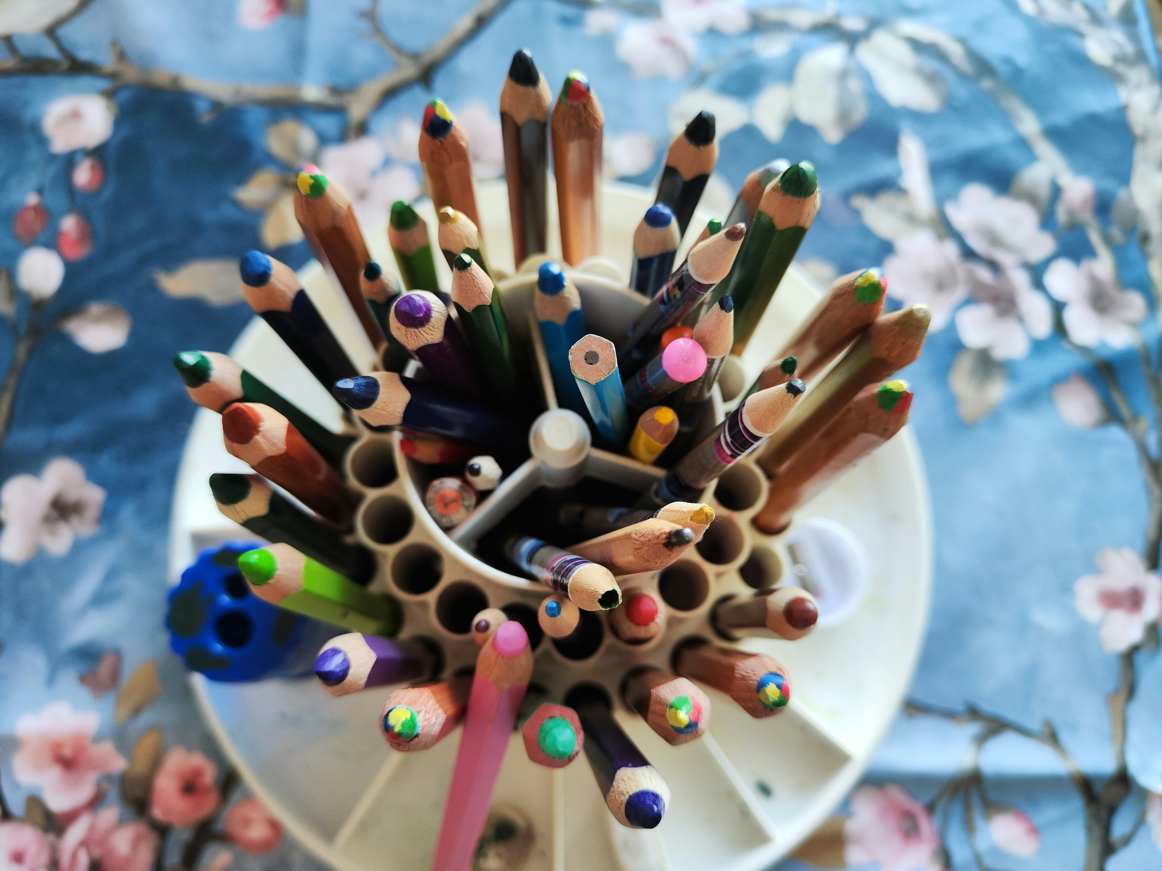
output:
<path id="1" fill-rule="evenodd" d="M 945 203 L 945 215 L 977 254 L 1002 266 L 1039 264 L 1057 247 L 1030 203 L 975 181 Z"/>

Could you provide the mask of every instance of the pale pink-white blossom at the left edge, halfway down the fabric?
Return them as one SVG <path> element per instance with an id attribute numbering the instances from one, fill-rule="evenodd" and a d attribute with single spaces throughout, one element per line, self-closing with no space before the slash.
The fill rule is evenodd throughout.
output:
<path id="1" fill-rule="evenodd" d="M 98 531 L 103 506 L 105 489 L 67 456 L 50 460 L 41 477 L 14 475 L 0 488 L 0 560 L 28 562 L 42 547 L 53 556 L 69 553 L 76 538 Z"/>

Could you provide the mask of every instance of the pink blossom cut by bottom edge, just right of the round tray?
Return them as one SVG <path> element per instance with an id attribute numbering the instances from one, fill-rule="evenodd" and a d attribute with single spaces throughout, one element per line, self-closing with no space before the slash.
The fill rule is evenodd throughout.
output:
<path id="1" fill-rule="evenodd" d="M 881 871 L 928 868 L 940 838 L 924 805 L 902 786 L 861 786 L 851 805 L 852 816 L 844 825 L 848 865 L 876 862 Z"/>

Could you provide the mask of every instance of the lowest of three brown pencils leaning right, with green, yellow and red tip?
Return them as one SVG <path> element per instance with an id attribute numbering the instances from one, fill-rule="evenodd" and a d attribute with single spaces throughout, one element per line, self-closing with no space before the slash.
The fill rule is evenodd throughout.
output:
<path id="1" fill-rule="evenodd" d="M 911 406 L 906 381 L 868 384 L 803 448 L 790 455 L 779 451 L 760 458 L 772 481 L 767 504 L 755 514 L 754 525 L 763 532 L 787 528 L 799 506 L 899 432 Z"/>

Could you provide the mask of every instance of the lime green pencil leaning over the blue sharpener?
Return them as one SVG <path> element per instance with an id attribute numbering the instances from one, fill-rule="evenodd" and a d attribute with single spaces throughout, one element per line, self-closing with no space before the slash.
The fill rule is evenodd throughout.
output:
<path id="1" fill-rule="evenodd" d="M 400 603 L 367 592 L 290 545 L 248 550 L 238 556 L 238 570 L 251 591 L 272 605 L 351 632 L 394 635 L 400 631 Z"/>

